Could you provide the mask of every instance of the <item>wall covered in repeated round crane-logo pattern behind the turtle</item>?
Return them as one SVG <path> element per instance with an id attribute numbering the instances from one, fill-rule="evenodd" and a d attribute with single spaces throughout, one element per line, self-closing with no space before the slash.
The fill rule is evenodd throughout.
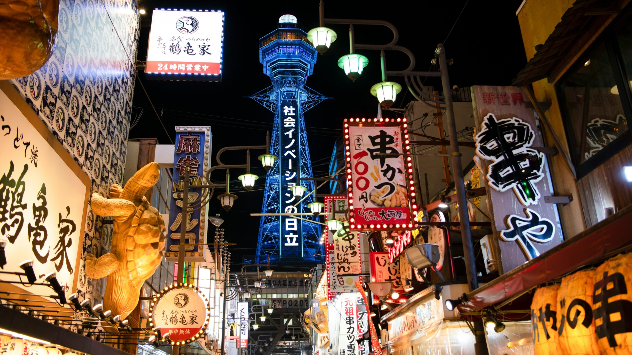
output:
<path id="1" fill-rule="evenodd" d="M 61 0 L 51 59 L 32 75 L 11 80 L 40 119 L 92 180 L 90 193 L 123 184 L 140 18 L 135 1 Z M 72 186 L 69 186 L 71 193 Z M 105 279 L 88 279 L 88 253 L 109 252 L 112 224 L 88 207 L 80 299 L 102 299 Z"/>

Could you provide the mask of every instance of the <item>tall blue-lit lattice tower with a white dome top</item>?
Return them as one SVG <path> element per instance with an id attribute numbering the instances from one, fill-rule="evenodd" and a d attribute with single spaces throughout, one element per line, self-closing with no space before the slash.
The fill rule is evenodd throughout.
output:
<path id="1" fill-rule="evenodd" d="M 289 188 L 299 183 L 299 177 L 312 178 L 303 114 L 328 99 L 305 87 L 316 55 L 307 34 L 298 28 L 296 17 L 292 15 L 281 16 L 278 28 L 259 40 L 259 61 L 264 66 L 264 73 L 272 79 L 272 85 L 250 97 L 274 112 L 270 153 L 279 157 L 265 179 L 262 213 L 310 211 L 307 204 L 313 202 L 313 194 L 294 207 L 298 200 Z M 313 181 L 301 181 L 300 184 L 307 188 L 307 192 L 314 188 Z M 324 263 L 324 248 L 319 243 L 322 225 L 309 222 L 315 219 L 313 216 L 301 218 L 261 217 L 253 262 L 265 262 L 270 256 L 270 262 L 277 265 Z"/>

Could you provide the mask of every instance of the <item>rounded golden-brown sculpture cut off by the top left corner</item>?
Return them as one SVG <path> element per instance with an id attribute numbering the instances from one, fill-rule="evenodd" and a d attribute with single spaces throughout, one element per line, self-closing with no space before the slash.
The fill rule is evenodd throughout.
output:
<path id="1" fill-rule="evenodd" d="M 0 0 L 0 80 L 27 76 L 48 61 L 58 11 L 59 0 Z"/>

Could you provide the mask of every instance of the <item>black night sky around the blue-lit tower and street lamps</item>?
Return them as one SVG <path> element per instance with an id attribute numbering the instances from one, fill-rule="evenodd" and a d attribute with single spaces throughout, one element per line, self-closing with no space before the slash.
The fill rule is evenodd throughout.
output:
<path id="1" fill-rule="evenodd" d="M 387 1 L 375 6 L 377 3 L 329 1 L 329 6 L 325 4 L 325 18 L 386 20 L 393 23 L 399 30 L 398 45 L 408 47 L 415 54 L 417 71 L 437 70 L 431 68 L 430 60 L 437 44 L 443 42 L 447 58 L 454 59 L 449 69 L 451 85 L 509 85 L 526 64 L 516 17 L 521 0 L 470 1 L 464 8 L 466 3 L 463 0 Z M 244 97 L 271 84 L 258 61 L 258 39 L 272 32 L 279 17 L 288 13 L 298 18 L 306 32 L 317 27 L 319 1 L 265 1 L 255 4 L 250 1 L 145 0 L 140 6 L 147 10 L 141 16 L 140 61 L 146 59 L 153 8 L 224 11 L 223 78 L 221 82 L 153 81 L 148 80 L 139 69 L 138 80 L 147 90 L 169 135 L 162 129 L 137 81 L 133 105 L 142 108 L 143 114 L 131 130 L 130 138 L 155 137 L 161 144 L 171 144 L 169 136 L 174 139 L 176 124 L 210 126 L 213 135 L 212 164 L 215 164 L 217 150 L 222 147 L 265 144 L 265 131 L 269 129 L 271 133 L 274 114 L 255 100 Z M 335 30 L 338 38 L 329 51 L 318 56 L 313 74 L 306 84 L 322 95 L 332 97 L 305 114 L 315 176 L 327 175 L 332 147 L 342 133 L 344 118 L 376 116 L 378 102 L 369 89 L 381 81 L 379 51 L 357 51 L 368 57 L 369 64 L 355 83 L 349 80 L 337 66 L 337 59 L 349 51 L 349 27 L 325 26 Z M 387 44 L 391 39 L 392 32 L 387 27 L 355 26 L 356 44 Z M 408 56 L 402 52 L 387 52 L 386 58 L 388 70 L 408 68 Z M 401 78 L 390 80 L 398 81 L 404 87 L 393 107 L 404 107 L 413 100 Z M 425 85 L 434 85 L 435 90 L 441 90 L 441 82 L 435 80 L 427 78 Z M 395 117 L 395 112 L 384 111 L 383 116 Z M 258 154 L 260 152 L 252 153 L 254 157 Z M 244 164 L 245 153 L 226 153 L 222 155 L 222 162 Z M 226 220 L 222 227 L 226 229 L 228 241 L 237 243 L 230 248 L 234 268 L 241 267 L 242 256 L 253 255 L 257 246 L 259 218 L 249 214 L 261 212 L 265 171 L 256 158 L 252 163 L 252 173 L 261 177 L 255 188 L 248 193 L 243 191 L 236 178 L 245 172 L 231 171 L 231 193 L 239 196 L 234 207 L 225 212 L 215 198 L 210 205 L 211 214 L 219 213 Z M 214 172 L 212 178 L 223 179 L 224 171 Z"/>

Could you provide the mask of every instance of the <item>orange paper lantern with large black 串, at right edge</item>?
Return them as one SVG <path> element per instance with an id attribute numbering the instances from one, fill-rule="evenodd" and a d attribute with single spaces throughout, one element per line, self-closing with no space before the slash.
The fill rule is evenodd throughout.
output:
<path id="1" fill-rule="evenodd" d="M 592 309 L 599 339 L 597 344 L 602 354 L 632 354 L 630 265 L 632 254 L 628 253 L 614 256 L 595 270 Z"/>

